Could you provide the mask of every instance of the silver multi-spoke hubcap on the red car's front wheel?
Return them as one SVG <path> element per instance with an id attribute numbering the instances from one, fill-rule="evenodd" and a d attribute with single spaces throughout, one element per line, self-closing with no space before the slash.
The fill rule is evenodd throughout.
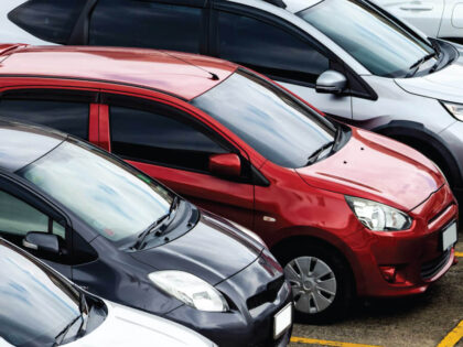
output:
<path id="1" fill-rule="evenodd" d="M 294 307 L 314 314 L 326 310 L 336 296 L 336 278 L 333 270 L 316 257 L 299 257 L 284 267 L 292 286 Z"/>

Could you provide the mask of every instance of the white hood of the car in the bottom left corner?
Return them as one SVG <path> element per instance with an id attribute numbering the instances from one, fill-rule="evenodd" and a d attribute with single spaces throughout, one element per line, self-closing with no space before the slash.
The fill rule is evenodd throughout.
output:
<path id="1" fill-rule="evenodd" d="M 108 316 L 103 324 L 68 346 L 215 346 L 200 334 L 171 321 L 111 302 L 105 301 L 105 304 Z"/>

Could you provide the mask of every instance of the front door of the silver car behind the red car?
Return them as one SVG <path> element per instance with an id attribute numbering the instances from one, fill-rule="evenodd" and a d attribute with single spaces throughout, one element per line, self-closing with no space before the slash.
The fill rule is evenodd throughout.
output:
<path id="1" fill-rule="evenodd" d="M 267 75 L 329 115 L 352 118 L 348 95 L 315 90 L 316 79 L 327 69 L 346 73 L 323 45 L 267 12 L 226 1 L 213 7 L 212 55 Z"/>

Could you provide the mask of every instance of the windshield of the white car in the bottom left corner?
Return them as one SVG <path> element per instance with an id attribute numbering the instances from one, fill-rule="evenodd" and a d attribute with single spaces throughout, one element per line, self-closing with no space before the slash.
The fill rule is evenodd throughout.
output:
<path id="1" fill-rule="evenodd" d="M 78 293 L 39 262 L 0 241 L 0 346 L 52 346 L 80 316 Z"/>

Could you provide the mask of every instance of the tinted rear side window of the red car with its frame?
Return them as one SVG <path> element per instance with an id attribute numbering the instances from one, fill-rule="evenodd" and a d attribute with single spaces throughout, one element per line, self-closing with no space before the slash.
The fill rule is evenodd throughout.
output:
<path id="1" fill-rule="evenodd" d="M 91 141 L 97 139 L 89 127 L 90 118 L 98 117 L 98 105 L 93 104 L 96 99 L 96 93 L 85 90 L 8 89 L 0 96 L 0 117 L 46 126 Z"/>

